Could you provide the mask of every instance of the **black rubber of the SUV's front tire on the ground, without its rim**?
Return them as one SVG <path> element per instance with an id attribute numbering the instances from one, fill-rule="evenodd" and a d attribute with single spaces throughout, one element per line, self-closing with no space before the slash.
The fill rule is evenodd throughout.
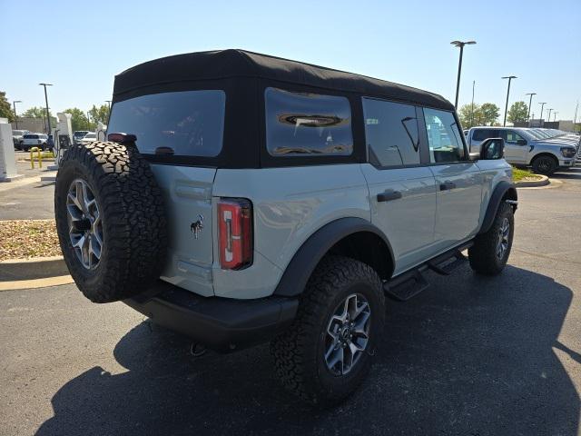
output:
<path id="1" fill-rule="evenodd" d="M 501 227 L 504 220 L 507 219 L 510 225 L 510 233 L 507 238 L 507 250 L 498 258 L 497 247 Z M 513 208 L 510 204 L 502 202 L 498 206 L 497 216 L 492 223 L 492 226 L 487 233 L 479 234 L 474 245 L 468 248 L 468 259 L 470 267 L 483 275 L 497 275 L 505 268 L 510 250 L 512 248 L 512 241 L 515 235 L 515 218 Z"/>

